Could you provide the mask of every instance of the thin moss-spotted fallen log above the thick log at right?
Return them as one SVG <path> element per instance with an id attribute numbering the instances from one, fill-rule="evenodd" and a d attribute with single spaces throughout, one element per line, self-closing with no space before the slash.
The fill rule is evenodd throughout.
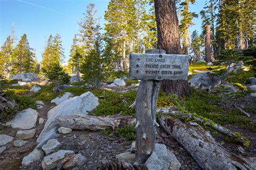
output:
<path id="1" fill-rule="evenodd" d="M 169 114 L 172 116 L 176 116 L 178 118 L 187 119 L 188 121 L 194 121 L 194 122 L 206 124 L 210 128 L 212 128 L 222 134 L 225 134 L 226 136 L 234 139 L 235 141 L 238 141 L 239 143 L 242 143 L 244 146 L 250 145 L 250 141 L 246 137 L 241 136 L 239 133 L 232 132 L 232 131 L 224 128 L 220 124 L 214 123 L 213 121 L 203 119 L 201 117 L 198 117 L 198 116 L 195 116 L 192 114 L 182 114 L 180 112 L 172 111 L 172 110 L 165 109 L 165 108 L 158 109 L 157 113 Z"/>

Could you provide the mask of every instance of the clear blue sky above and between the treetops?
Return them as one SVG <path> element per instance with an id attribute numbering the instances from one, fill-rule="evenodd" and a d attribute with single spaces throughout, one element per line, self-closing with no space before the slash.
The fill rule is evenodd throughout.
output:
<path id="1" fill-rule="evenodd" d="M 191 5 L 191 11 L 199 13 L 205 0 L 197 0 Z M 104 12 L 109 0 L 0 0 L 0 45 L 11 34 L 15 25 L 16 42 L 26 33 L 30 46 L 36 49 L 38 61 L 42 60 L 44 42 L 50 34 L 59 33 L 65 48 L 65 61 L 69 59 L 72 39 L 79 31 L 78 22 L 83 18 L 86 6 L 95 4 L 97 17 L 104 26 Z M 200 32 L 200 17 L 194 19 L 192 30 Z"/>

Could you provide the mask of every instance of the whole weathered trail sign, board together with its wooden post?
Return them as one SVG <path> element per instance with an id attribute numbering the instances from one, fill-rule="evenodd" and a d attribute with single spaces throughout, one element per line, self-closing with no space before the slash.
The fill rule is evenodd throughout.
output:
<path id="1" fill-rule="evenodd" d="M 139 79 L 136 97 L 136 162 L 144 164 L 155 150 L 157 95 L 161 80 L 187 80 L 188 55 L 147 49 L 130 54 L 130 79 Z"/>

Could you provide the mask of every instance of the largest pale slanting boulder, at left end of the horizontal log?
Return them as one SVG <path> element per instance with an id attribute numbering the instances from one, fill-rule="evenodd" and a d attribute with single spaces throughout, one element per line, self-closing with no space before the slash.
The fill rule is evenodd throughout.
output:
<path id="1" fill-rule="evenodd" d="M 48 119 L 44 125 L 44 129 L 37 138 L 37 142 L 39 144 L 42 144 L 46 139 L 45 136 L 47 136 L 47 138 L 52 138 L 52 135 L 56 134 L 55 129 L 57 126 L 57 122 L 55 121 L 55 119 L 57 116 L 87 115 L 90 111 L 95 109 L 98 104 L 98 97 L 93 95 L 90 91 L 80 96 L 69 98 L 68 100 L 60 103 L 48 112 Z M 51 133 L 48 133 L 48 131 L 50 130 Z"/>

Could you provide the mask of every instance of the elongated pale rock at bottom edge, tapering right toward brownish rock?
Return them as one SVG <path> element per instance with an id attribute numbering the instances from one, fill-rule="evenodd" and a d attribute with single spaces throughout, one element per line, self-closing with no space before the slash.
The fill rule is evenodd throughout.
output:
<path id="1" fill-rule="evenodd" d="M 66 155 L 73 154 L 73 151 L 60 150 L 44 157 L 42 161 L 43 169 L 53 169 L 57 166 L 58 162 L 66 157 Z"/>

